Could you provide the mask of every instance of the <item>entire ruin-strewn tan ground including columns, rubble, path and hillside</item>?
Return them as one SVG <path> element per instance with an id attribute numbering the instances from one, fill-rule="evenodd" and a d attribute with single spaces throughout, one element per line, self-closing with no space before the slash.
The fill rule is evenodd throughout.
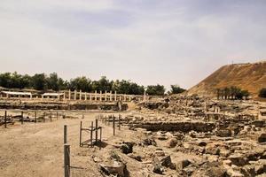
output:
<path id="1" fill-rule="evenodd" d="M 265 176 L 265 64 L 165 96 L 2 88 L 0 176 Z"/>

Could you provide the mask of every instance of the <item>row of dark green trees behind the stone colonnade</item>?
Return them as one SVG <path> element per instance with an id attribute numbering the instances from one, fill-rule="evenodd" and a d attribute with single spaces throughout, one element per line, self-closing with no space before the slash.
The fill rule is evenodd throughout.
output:
<path id="1" fill-rule="evenodd" d="M 35 73 L 28 74 L 0 73 L 0 86 L 7 89 L 36 89 L 36 90 L 82 90 L 83 92 L 93 92 L 95 90 L 116 91 L 118 94 L 163 96 L 166 89 L 163 85 L 149 85 L 146 88 L 132 81 L 115 80 L 110 81 L 106 76 L 102 76 L 98 81 L 92 81 L 85 76 L 76 77 L 69 81 L 63 80 L 57 73 Z M 172 85 L 168 94 L 182 93 L 185 89 L 177 85 Z"/>

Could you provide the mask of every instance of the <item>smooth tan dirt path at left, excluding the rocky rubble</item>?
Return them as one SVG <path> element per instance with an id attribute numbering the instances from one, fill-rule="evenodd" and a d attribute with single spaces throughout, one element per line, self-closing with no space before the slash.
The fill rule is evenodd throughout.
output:
<path id="1" fill-rule="evenodd" d="M 45 123 L 24 122 L 24 125 L 16 122 L 8 128 L 0 127 L 0 176 L 63 176 L 64 125 L 67 125 L 67 141 L 71 146 L 72 176 L 100 176 L 90 158 L 97 148 L 79 147 L 80 121 L 84 127 L 89 127 L 98 113 L 84 113 L 84 119 L 82 113 L 74 113 L 79 119 L 59 118 Z M 104 128 L 106 142 L 113 136 L 112 132 L 112 127 Z M 89 139 L 90 135 L 86 135 Z"/>

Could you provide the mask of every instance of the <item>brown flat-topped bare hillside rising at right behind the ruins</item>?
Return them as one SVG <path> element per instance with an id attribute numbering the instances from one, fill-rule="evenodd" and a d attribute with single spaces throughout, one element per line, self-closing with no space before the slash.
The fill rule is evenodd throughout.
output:
<path id="1" fill-rule="evenodd" d="M 266 87 L 266 61 L 254 64 L 223 65 L 205 80 L 189 89 L 189 94 L 215 94 L 215 89 L 237 86 L 256 97 Z"/>

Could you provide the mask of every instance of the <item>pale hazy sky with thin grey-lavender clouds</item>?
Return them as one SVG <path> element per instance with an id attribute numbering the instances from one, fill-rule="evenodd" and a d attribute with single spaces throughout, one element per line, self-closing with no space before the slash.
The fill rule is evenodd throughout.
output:
<path id="1" fill-rule="evenodd" d="M 189 88 L 265 46 L 265 0 L 0 0 L 1 73 Z"/>

